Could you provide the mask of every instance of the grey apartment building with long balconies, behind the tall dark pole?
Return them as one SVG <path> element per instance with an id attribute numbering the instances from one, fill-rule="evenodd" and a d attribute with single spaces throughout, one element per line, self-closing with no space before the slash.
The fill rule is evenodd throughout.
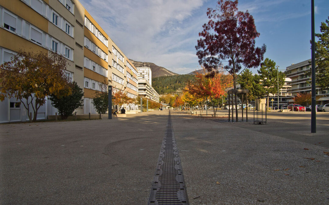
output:
<path id="1" fill-rule="evenodd" d="M 291 98 L 296 96 L 297 93 L 311 92 L 311 68 L 311 59 L 296 64 L 291 64 L 291 66 L 288 66 L 286 68 L 287 77 L 291 78 L 291 82 L 289 83 L 289 85 L 291 86 L 291 92 L 289 92 L 291 94 Z M 316 97 L 317 101 L 319 101 L 320 104 L 329 103 L 328 89 L 321 90 L 319 88 L 316 88 Z M 293 102 L 291 98 L 289 99 L 289 101 Z"/>

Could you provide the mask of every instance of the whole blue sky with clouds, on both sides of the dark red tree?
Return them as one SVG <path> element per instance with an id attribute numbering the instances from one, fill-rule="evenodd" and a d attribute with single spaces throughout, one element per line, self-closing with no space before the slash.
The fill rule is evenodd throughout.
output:
<path id="1" fill-rule="evenodd" d="M 85 9 L 130 59 L 152 62 L 178 74 L 201 69 L 195 45 L 207 8 L 215 0 L 80 0 Z M 310 0 L 239 0 L 266 45 L 265 58 L 280 70 L 311 58 Z M 315 32 L 329 16 L 329 0 L 315 0 Z M 316 39 L 317 40 L 317 39 Z M 223 62 L 225 65 L 225 62 Z M 251 69 L 257 73 L 256 69 Z"/>

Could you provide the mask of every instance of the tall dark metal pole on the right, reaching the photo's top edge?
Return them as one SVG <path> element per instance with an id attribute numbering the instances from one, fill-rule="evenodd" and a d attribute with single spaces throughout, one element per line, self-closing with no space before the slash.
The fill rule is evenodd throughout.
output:
<path id="1" fill-rule="evenodd" d="M 312 21 L 312 110 L 311 110 L 311 133 L 316 133 L 316 98 L 315 98 L 315 30 L 314 30 L 314 0 L 311 3 Z"/>

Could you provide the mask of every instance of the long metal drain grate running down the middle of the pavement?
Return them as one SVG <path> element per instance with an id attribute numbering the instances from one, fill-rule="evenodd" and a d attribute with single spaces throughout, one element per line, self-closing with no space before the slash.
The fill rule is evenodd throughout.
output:
<path id="1" fill-rule="evenodd" d="M 170 111 L 148 204 L 189 204 Z"/>

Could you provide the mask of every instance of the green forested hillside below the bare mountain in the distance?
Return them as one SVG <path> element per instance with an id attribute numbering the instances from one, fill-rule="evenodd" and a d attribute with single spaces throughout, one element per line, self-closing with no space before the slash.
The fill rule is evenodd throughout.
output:
<path id="1" fill-rule="evenodd" d="M 189 80 L 194 79 L 194 75 L 172 75 L 152 78 L 152 87 L 161 95 L 174 93 L 179 89 L 184 89 Z"/>

